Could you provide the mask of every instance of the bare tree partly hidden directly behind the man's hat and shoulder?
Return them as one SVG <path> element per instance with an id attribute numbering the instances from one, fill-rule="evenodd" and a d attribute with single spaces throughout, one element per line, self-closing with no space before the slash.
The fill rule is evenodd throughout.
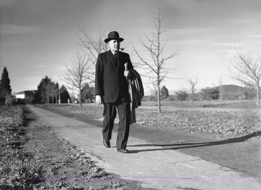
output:
<path id="1" fill-rule="evenodd" d="M 89 75 L 88 79 L 91 83 L 95 82 L 95 65 L 97 61 L 98 54 L 108 51 L 109 47 L 103 40 L 106 38 L 104 34 L 101 34 L 99 31 L 99 35 L 96 40 L 93 40 L 84 30 L 80 27 L 83 37 L 78 36 L 80 40 L 80 45 L 83 47 L 83 52 L 89 56 Z"/>

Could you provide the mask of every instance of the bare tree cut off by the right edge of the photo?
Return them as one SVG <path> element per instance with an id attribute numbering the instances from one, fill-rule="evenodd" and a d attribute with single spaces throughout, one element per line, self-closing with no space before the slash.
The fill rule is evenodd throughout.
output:
<path id="1" fill-rule="evenodd" d="M 253 61 L 250 55 L 246 57 L 239 50 L 234 57 L 235 59 L 231 63 L 236 71 L 233 72 L 228 67 L 230 78 L 240 81 L 244 85 L 256 87 L 256 104 L 259 105 L 261 58 Z"/>

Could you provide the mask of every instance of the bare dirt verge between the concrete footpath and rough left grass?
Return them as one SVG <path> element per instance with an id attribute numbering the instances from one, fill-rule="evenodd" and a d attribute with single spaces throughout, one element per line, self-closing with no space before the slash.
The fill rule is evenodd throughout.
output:
<path id="1" fill-rule="evenodd" d="M 151 189 L 142 188 L 136 181 L 123 180 L 118 175 L 97 168 L 84 153 L 57 136 L 51 127 L 28 110 L 26 118 L 29 121 L 29 140 L 22 148 L 27 152 L 37 152 L 44 168 L 50 169 L 46 176 L 42 176 L 45 180 L 35 184 L 37 189 Z"/>

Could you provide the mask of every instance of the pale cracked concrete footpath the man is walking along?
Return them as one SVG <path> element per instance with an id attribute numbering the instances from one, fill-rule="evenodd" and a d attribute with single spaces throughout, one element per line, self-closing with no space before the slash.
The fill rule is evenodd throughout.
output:
<path id="1" fill-rule="evenodd" d="M 114 132 L 112 147 L 105 148 L 100 127 L 33 105 L 27 106 L 66 140 L 84 150 L 97 166 L 124 179 L 140 181 L 143 187 L 166 190 L 261 190 L 260 181 L 243 173 L 175 150 L 158 150 L 163 147 L 150 146 L 148 142 L 133 137 L 129 137 L 127 144 L 129 154 L 116 151 L 117 133 Z"/>

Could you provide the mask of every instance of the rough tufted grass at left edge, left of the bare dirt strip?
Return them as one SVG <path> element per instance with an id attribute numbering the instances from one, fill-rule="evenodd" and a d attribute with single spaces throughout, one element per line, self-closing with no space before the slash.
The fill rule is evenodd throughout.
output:
<path id="1" fill-rule="evenodd" d="M 19 149 L 26 142 L 23 109 L 19 106 L 0 109 L 0 187 L 29 189 L 42 168 L 34 162 L 34 155 Z"/>

